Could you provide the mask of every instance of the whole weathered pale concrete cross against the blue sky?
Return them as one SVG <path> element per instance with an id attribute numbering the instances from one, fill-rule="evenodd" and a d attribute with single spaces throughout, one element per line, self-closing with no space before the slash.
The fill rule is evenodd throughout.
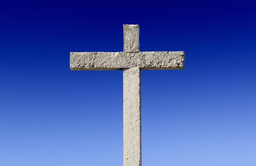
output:
<path id="1" fill-rule="evenodd" d="M 141 70 L 184 69 L 183 51 L 140 52 L 139 25 L 123 25 L 123 52 L 71 52 L 71 70 L 123 70 L 123 166 L 142 166 Z"/>

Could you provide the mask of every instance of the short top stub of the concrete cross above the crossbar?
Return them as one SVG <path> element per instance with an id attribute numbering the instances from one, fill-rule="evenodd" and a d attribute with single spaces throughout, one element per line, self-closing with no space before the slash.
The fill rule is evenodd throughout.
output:
<path id="1" fill-rule="evenodd" d="M 140 51 L 139 25 L 123 25 L 123 52 Z"/>

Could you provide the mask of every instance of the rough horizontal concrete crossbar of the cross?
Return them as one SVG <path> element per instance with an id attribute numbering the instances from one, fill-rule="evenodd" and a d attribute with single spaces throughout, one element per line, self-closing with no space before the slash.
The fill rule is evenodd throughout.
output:
<path id="1" fill-rule="evenodd" d="M 139 67 L 150 69 L 183 69 L 183 51 L 157 52 L 71 52 L 71 70 L 118 70 Z"/>

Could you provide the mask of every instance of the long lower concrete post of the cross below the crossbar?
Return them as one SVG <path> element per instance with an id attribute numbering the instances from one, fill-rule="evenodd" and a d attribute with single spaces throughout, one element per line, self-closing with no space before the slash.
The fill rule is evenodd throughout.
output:
<path id="1" fill-rule="evenodd" d="M 123 166 L 142 166 L 140 68 L 123 70 Z"/>

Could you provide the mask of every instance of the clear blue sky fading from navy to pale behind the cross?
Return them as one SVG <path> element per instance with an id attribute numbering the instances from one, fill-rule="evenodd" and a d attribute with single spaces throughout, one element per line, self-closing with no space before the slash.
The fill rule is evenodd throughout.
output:
<path id="1" fill-rule="evenodd" d="M 0 166 L 122 166 L 123 73 L 69 69 L 69 52 L 186 53 L 142 71 L 143 166 L 256 166 L 255 0 L 0 4 Z"/>

